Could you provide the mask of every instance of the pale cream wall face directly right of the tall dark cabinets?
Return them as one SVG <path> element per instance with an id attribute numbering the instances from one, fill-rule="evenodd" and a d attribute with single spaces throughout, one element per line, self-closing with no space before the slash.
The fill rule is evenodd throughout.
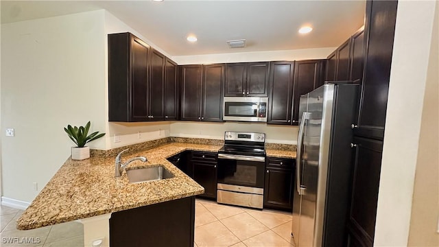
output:
<path id="1" fill-rule="evenodd" d="M 407 246 L 436 4 L 398 2 L 375 246 Z M 436 73 L 437 69 L 434 68 Z"/>

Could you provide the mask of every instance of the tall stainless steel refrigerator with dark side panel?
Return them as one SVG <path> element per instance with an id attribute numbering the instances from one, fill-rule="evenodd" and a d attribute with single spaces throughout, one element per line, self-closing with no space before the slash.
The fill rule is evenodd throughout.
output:
<path id="1" fill-rule="evenodd" d="M 292 236 L 296 247 L 346 246 L 357 84 L 331 82 L 300 96 Z"/>

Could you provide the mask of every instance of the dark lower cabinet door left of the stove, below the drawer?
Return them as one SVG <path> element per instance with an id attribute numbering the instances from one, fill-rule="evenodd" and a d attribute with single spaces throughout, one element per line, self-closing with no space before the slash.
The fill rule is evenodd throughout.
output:
<path id="1" fill-rule="evenodd" d="M 200 197 L 217 198 L 217 167 L 211 163 L 193 162 L 193 180 L 204 187 Z"/>

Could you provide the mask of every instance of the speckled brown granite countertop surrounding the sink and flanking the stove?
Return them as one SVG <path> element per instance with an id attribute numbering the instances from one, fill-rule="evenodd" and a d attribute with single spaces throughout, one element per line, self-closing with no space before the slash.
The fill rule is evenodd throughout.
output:
<path id="1" fill-rule="evenodd" d="M 204 193 L 185 173 L 166 160 L 185 150 L 217 152 L 222 145 L 168 143 L 142 152 L 123 155 L 123 161 L 146 156 L 130 167 L 164 165 L 174 178 L 131 184 L 126 172 L 115 178 L 115 157 L 94 156 L 84 161 L 69 158 L 17 220 L 16 228 L 28 230 L 84 219 Z M 267 149 L 267 156 L 295 158 L 295 151 Z"/>

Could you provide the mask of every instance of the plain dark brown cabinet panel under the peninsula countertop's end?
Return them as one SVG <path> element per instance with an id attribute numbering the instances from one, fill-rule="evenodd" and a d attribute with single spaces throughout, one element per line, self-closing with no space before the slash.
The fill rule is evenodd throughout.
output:
<path id="1" fill-rule="evenodd" d="M 195 198 L 181 198 L 111 214 L 110 246 L 193 247 Z"/>

